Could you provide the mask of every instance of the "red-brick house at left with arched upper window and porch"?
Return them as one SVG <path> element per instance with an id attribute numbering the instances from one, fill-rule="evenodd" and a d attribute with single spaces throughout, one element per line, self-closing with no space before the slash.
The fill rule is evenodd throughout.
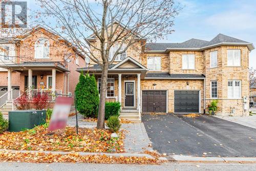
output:
<path id="1" fill-rule="evenodd" d="M 3 113 L 7 101 L 28 89 L 32 95 L 42 92 L 49 94 L 49 98 L 55 91 L 73 94 L 79 78 L 75 70 L 86 66 L 84 56 L 67 40 L 41 26 L 16 38 L 0 38 L 0 48 L 0 107 Z"/>

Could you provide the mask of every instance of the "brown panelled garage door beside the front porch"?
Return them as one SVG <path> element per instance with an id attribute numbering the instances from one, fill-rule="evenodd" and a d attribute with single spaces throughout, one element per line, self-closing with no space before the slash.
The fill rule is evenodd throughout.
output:
<path id="1" fill-rule="evenodd" d="M 143 90 L 142 91 L 142 112 L 166 113 L 166 91 Z"/>

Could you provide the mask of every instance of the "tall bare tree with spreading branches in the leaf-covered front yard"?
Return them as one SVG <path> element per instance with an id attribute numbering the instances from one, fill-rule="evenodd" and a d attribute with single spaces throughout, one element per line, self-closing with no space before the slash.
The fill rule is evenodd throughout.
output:
<path id="1" fill-rule="evenodd" d="M 80 53 L 102 68 L 97 128 L 104 128 L 109 66 L 129 47 L 145 39 L 164 38 L 173 32 L 180 10 L 174 0 L 37 0 L 42 7 L 37 20 L 71 42 Z M 88 37 L 99 41 L 96 46 Z M 118 44 L 112 58 L 110 48 Z M 98 55 L 100 54 L 100 55 Z"/>

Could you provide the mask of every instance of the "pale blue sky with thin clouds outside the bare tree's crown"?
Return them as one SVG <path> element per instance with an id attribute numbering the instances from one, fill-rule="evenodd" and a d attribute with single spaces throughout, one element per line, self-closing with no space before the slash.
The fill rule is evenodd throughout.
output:
<path id="1" fill-rule="evenodd" d="M 211 40 L 222 33 L 256 46 L 256 0 L 174 1 L 182 7 L 175 18 L 175 32 L 157 42 L 183 42 L 190 38 Z M 28 2 L 30 8 L 38 8 L 34 0 Z M 249 66 L 256 69 L 256 49 L 249 53 Z"/>

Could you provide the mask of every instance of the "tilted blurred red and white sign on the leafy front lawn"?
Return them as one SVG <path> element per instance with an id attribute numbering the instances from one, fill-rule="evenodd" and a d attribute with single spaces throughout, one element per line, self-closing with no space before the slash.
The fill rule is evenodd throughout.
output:
<path id="1" fill-rule="evenodd" d="M 73 97 L 56 98 L 48 131 L 65 129 L 73 101 Z"/>

